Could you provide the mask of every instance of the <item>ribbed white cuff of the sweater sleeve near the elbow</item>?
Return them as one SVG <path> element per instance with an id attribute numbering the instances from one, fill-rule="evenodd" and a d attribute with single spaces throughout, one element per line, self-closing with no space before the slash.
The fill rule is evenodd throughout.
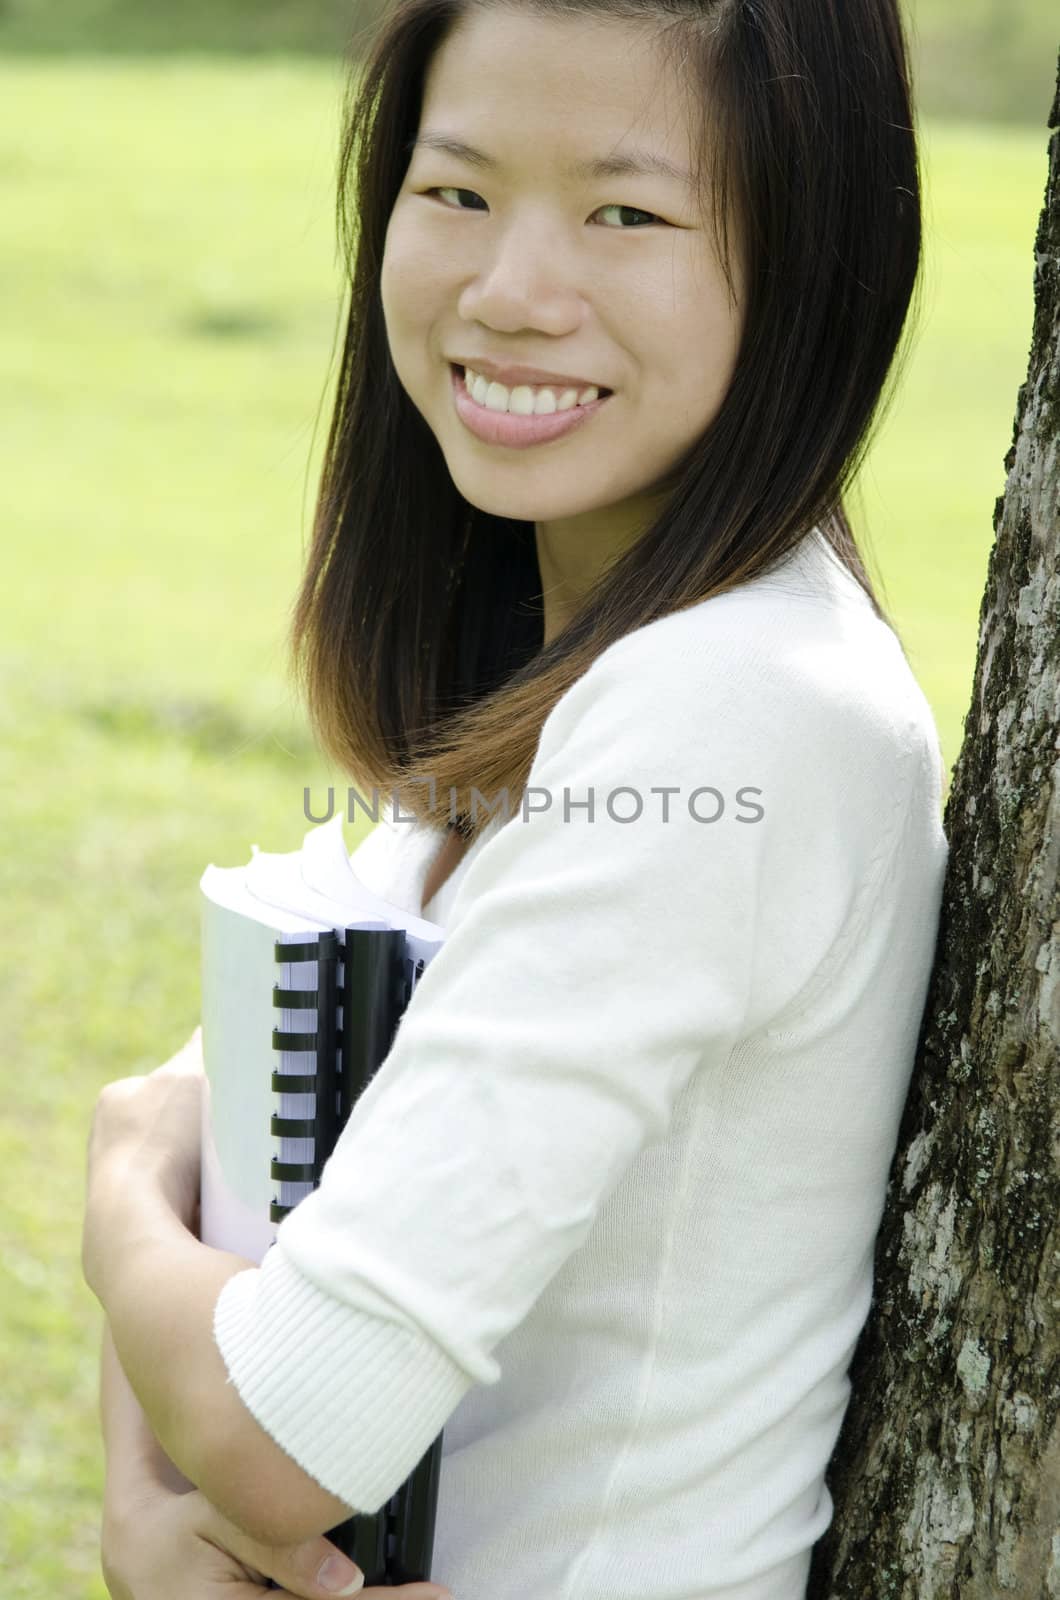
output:
<path id="1" fill-rule="evenodd" d="M 227 1280 L 213 1338 L 255 1421 L 365 1514 L 405 1483 L 472 1387 L 434 1341 L 325 1294 L 279 1243 Z"/>

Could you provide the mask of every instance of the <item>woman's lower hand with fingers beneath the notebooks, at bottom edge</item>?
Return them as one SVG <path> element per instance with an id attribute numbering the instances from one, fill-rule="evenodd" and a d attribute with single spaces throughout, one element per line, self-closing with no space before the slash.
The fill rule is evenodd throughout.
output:
<path id="1" fill-rule="evenodd" d="M 335 1600 L 354 1590 L 325 1589 L 319 1573 L 328 1557 L 355 1568 L 323 1534 L 304 1544 L 258 1544 L 199 1491 L 178 1494 L 149 1486 L 122 1518 L 104 1515 L 102 1576 L 112 1600 Z M 272 1578 L 280 1587 L 269 1589 Z M 362 1600 L 452 1600 L 436 1582 L 355 1590 Z"/>

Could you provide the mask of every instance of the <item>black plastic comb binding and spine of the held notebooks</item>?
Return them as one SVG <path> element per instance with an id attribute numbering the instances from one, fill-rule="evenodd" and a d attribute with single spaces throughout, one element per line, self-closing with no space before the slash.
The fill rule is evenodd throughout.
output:
<path id="1" fill-rule="evenodd" d="M 280 1182 L 320 1182 L 325 1162 L 357 1099 L 386 1059 L 400 1016 L 423 973 L 423 960 L 405 954 L 405 934 L 399 928 L 346 928 L 322 933 L 319 939 L 299 944 L 275 942 L 275 960 L 315 962 L 315 989 L 272 989 L 272 1003 L 283 1010 L 311 1011 L 312 1032 L 272 1030 L 272 1048 L 312 1051 L 311 1074 L 274 1072 L 272 1090 L 287 1094 L 312 1094 L 312 1117 L 272 1117 L 272 1133 L 279 1138 L 312 1139 L 311 1162 L 272 1158 L 272 1178 Z M 343 1008 L 341 1027 L 336 1021 Z M 293 1206 L 269 1206 L 274 1222 L 282 1222 Z M 434 1523 L 442 1438 L 434 1440 L 405 1483 L 378 1512 L 349 1517 L 328 1531 L 328 1539 L 355 1562 L 365 1574 L 365 1587 L 379 1584 L 413 1584 L 431 1578 Z M 277 1587 L 269 1581 L 269 1587 Z"/>

